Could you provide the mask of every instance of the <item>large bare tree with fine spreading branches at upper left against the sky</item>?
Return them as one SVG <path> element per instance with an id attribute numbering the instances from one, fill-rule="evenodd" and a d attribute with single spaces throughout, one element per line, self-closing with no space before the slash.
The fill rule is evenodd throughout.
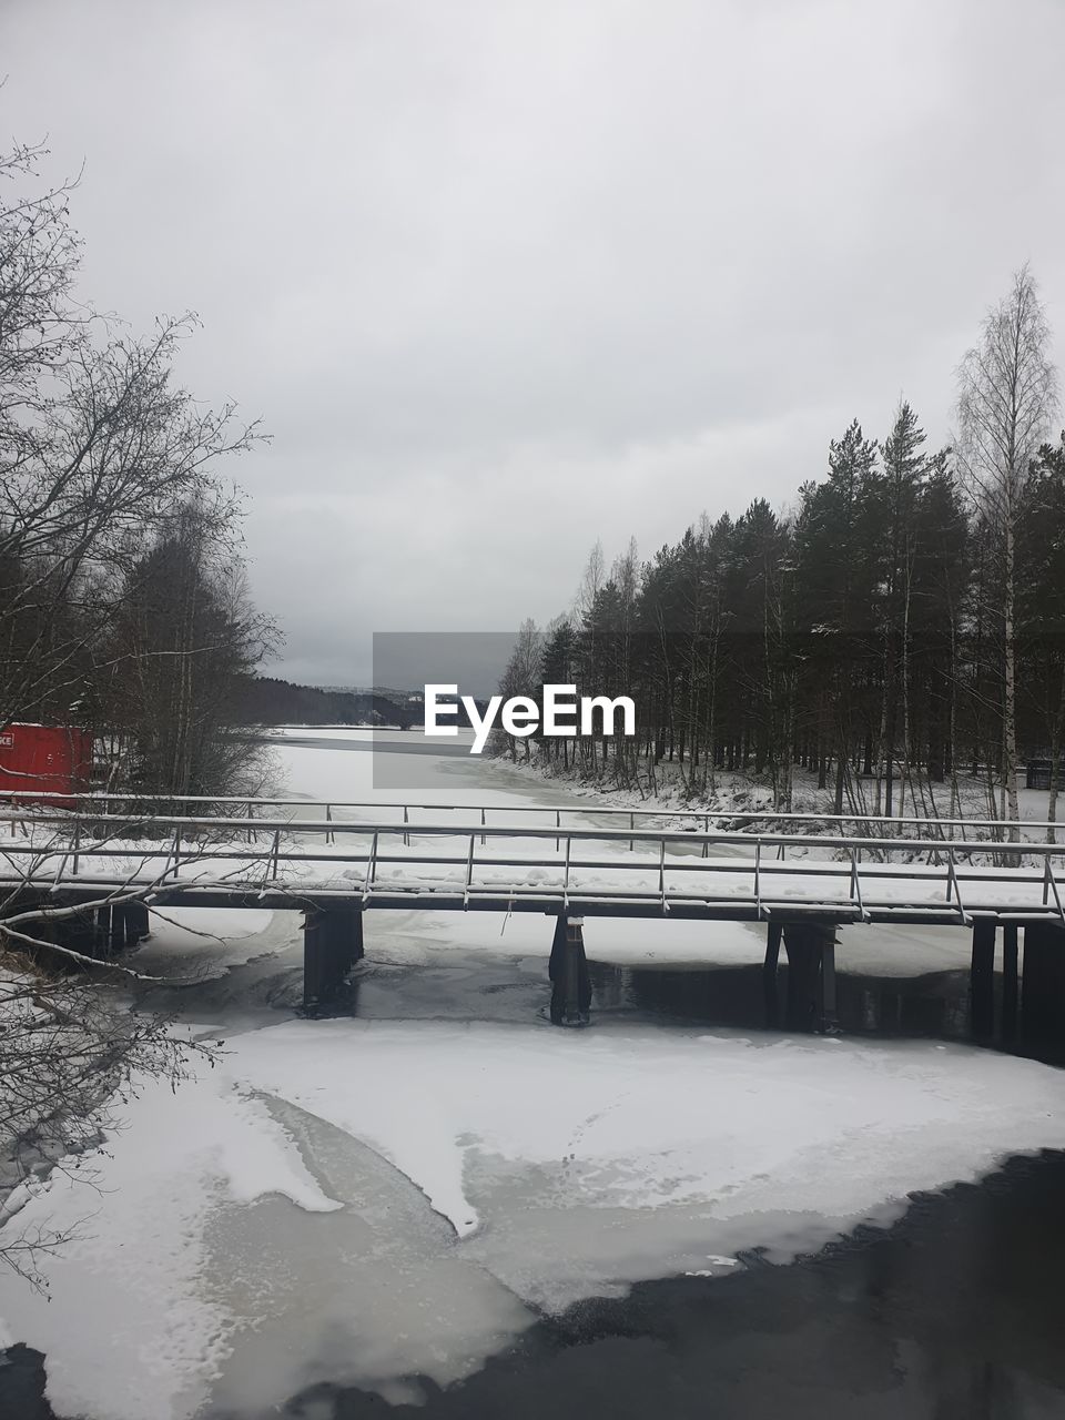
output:
<path id="1" fill-rule="evenodd" d="M 133 339 L 74 300 L 71 185 L 24 192 L 43 156 L 0 155 L 3 724 L 78 700 L 145 540 L 192 498 L 224 510 L 216 466 L 258 437 L 231 405 L 204 408 L 175 385 L 193 317 Z"/>

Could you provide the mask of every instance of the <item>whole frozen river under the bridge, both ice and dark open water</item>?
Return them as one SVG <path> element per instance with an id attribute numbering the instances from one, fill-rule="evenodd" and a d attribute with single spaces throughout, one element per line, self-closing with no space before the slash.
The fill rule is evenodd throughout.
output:
<path id="1" fill-rule="evenodd" d="M 287 792 L 372 799 L 366 743 L 293 734 Z M 422 802 L 579 802 L 432 750 L 393 737 L 376 797 L 406 760 Z M 48 1299 L 0 1275 L 0 1342 L 44 1356 L 53 1413 L 1065 1414 L 1061 1156 L 950 1187 L 1065 1146 L 1059 1071 L 727 1028 L 693 1003 L 761 958 L 744 924 L 585 936 L 595 1024 L 562 1032 L 535 916 L 373 913 L 349 1014 L 315 1022 L 295 914 L 158 923 L 138 966 L 183 981 L 148 1001 L 226 1055 L 145 1088 L 92 1183 L 55 1173 L 16 1220 L 78 1224 Z M 859 929 L 839 966 L 950 980 L 967 953 Z M 16 1355 L 4 1420 L 16 1370 L 40 1379 Z"/>

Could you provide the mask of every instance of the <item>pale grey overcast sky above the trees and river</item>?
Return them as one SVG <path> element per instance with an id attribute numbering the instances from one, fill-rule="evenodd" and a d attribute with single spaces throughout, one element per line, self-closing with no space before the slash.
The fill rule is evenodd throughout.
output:
<path id="1" fill-rule="evenodd" d="M 0 0 L 82 288 L 261 415 L 277 670 L 498 630 L 589 547 L 785 506 L 1031 260 L 1065 351 L 1065 0 Z"/>

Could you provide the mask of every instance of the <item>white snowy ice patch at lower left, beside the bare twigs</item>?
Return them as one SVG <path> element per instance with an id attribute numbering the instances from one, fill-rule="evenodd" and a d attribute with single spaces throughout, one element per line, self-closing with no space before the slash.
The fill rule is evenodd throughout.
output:
<path id="1" fill-rule="evenodd" d="M 266 1105 L 220 1069 L 172 1091 L 148 1082 L 102 1149 L 57 1169 L 7 1224 L 9 1240 L 74 1231 L 41 1269 L 50 1295 L 0 1274 L 0 1315 L 48 1353 L 60 1414 L 193 1414 L 237 1318 L 204 1288 L 204 1234 L 226 1204 L 280 1194 L 339 1207 Z"/>

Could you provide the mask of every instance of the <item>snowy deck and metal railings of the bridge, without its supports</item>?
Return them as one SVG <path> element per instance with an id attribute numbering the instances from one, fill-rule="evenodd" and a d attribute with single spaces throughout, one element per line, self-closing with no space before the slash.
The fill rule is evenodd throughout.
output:
<path id="1" fill-rule="evenodd" d="M 0 824 L 11 831 L 0 841 L 0 888 L 84 893 L 122 873 L 149 897 L 213 890 L 227 900 L 250 895 L 295 902 L 339 893 L 344 875 L 352 878 L 344 892 L 364 909 L 415 902 L 473 910 L 508 902 L 521 910 L 568 910 L 575 902 L 643 914 L 674 907 L 687 914 L 734 912 L 744 920 L 787 912 L 821 912 L 841 922 L 916 913 L 920 920 L 964 924 L 990 912 L 1065 924 L 1065 873 L 1055 862 L 1065 859 L 1065 843 L 974 836 L 988 826 L 1044 826 L 1031 821 L 122 794 L 34 795 L 27 808 L 24 798 L 0 791 Z M 67 807 L 71 801 L 74 808 Z M 166 812 L 152 812 L 160 804 Z M 115 812 L 132 805 L 145 812 Z M 204 805 L 207 812 L 180 812 Z M 223 805 L 231 812 L 219 812 Z M 366 816 L 338 818 L 342 808 Z M 416 822 L 412 809 L 427 821 Z M 569 826 L 564 815 L 582 821 Z M 727 826 L 711 828 L 716 821 Z M 932 863 L 927 835 L 869 835 L 889 822 L 919 834 L 922 825 L 941 829 L 950 822 L 964 836 L 934 836 Z M 828 831 L 811 834 L 809 825 Z M 632 852 L 636 848 L 642 852 Z M 785 861 L 788 848 L 805 852 Z M 876 861 L 862 861 L 869 856 Z M 528 875 L 531 868 L 547 872 Z M 588 880 L 591 873 L 602 876 Z"/>

